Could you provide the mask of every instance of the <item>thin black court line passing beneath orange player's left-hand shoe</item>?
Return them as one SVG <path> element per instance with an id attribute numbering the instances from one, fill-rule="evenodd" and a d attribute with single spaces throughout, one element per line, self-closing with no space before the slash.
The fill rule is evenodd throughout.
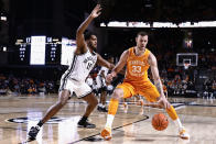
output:
<path id="1" fill-rule="evenodd" d="M 127 123 L 127 124 L 121 125 L 121 126 L 117 126 L 117 128 L 112 129 L 112 131 L 115 131 L 115 130 L 121 129 L 121 128 L 123 128 L 123 126 L 128 126 L 128 125 L 131 125 L 131 124 L 134 124 L 134 123 L 138 123 L 138 122 L 141 122 L 141 121 L 144 121 L 144 120 L 148 120 L 148 119 L 149 119 L 149 117 L 148 117 L 148 115 L 143 115 L 143 117 L 145 117 L 145 118 L 144 118 L 144 119 L 141 119 L 141 120 L 138 120 L 138 121 L 134 121 L 134 122 L 131 122 L 131 123 Z M 84 139 L 77 140 L 77 141 L 75 141 L 75 142 L 67 143 L 67 144 L 75 144 L 75 143 L 78 143 L 78 142 L 82 142 L 82 141 L 85 141 L 85 140 L 88 140 L 88 139 L 90 139 L 90 137 L 93 137 L 93 139 L 94 139 L 94 136 L 97 136 L 97 135 L 100 135 L 100 133 L 97 133 L 97 134 L 94 134 L 94 135 L 90 135 L 90 136 L 87 136 L 87 137 L 84 137 Z"/>

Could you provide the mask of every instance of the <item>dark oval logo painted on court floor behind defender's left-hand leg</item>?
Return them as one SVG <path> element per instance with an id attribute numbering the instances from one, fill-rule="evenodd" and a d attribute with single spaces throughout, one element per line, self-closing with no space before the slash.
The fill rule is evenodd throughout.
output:
<path id="1" fill-rule="evenodd" d="M 50 124 L 53 123 L 54 124 L 54 123 L 60 123 L 63 120 L 65 120 L 65 118 L 53 117 L 46 123 L 50 123 Z M 7 122 L 12 122 L 12 123 L 29 123 L 30 121 L 39 121 L 39 119 L 23 117 L 23 118 L 8 119 L 6 121 Z"/>

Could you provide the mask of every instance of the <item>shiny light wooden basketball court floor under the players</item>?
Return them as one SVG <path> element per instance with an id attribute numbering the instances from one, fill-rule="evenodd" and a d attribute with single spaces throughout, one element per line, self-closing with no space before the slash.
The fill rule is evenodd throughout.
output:
<path id="1" fill-rule="evenodd" d="M 107 113 L 95 110 L 90 115 L 89 121 L 97 125 L 96 129 L 77 128 L 86 103 L 72 98 L 44 124 L 35 141 L 26 142 L 26 132 L 56 100 L 57 95 L 1 96 L 0 144 L 216 144 L 216 100 L 202 98 L 170 99 L 191 135 L 190 140 L 177 136 L 177 130 L 170 118 L 166 130 L 156 131 L 152 128 L 153 114 L 165 113 L 164 110 L 129 104 L 126 111 L 119 104 L 112 125 L 112 140 L 104 141 L 99 133 L 106 123 Z"/>

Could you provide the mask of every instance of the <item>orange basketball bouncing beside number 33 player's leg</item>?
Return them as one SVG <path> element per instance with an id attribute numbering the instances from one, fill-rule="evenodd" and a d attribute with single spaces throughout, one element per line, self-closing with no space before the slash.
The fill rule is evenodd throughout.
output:
<path id="1" fill-rule="evenodd" d="M 169 120 L 163 113 L 159 113 L 159 114 L 154 114 L 151 123 L 155 130 L 163 131 L 168 128 Z"/>

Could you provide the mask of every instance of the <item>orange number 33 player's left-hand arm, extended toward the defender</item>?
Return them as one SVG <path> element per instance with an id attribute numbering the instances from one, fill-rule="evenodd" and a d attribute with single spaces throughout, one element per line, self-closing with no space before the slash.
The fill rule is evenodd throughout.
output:
<path id="1" fill-rule="evenodd" d="M 111 82 L 112 78 L 117 76 L 117 74 L 126 66 L 127 59 L 128 59 L 128 51 L 125 51 L 121 54 L 121 57 L 118 62 L 118 64 L 115 66 L 115 68 L 111 70 L 110 74 L 107 75 L 106 81 Z"/>

